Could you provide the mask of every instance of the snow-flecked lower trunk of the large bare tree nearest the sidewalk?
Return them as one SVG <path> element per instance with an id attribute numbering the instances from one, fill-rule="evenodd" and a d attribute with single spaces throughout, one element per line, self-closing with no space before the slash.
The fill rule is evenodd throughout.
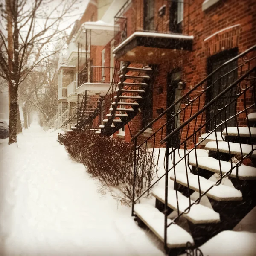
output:
<path id="1" fill-rule="evenodd" d="M 17 142 L 17 110 L 18 110 L 18 90 L 17 87 L 9 87 L 10 112 L 9 112 L 9 142 Z"/>

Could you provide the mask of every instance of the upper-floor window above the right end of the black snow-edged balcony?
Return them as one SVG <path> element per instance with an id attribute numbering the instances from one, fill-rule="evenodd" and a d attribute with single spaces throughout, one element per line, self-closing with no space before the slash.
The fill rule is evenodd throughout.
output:
<path id="1" fill-rule="evenodd" d="M 184 13 L 183 0 L 172 1 L 169 9 L 169 29 L 170 32 L 182 33 L 182 21 Z"/>

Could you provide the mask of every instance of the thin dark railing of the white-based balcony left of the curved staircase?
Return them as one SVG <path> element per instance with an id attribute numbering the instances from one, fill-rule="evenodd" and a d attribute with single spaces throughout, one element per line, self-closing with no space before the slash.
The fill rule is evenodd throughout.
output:
<path id="1" fill-rule="evenodd" d="M 110 84 L 115 67 L 90 66 L 89 70 L 90 72 L 87 67 L 84 67 L 78 73 L 78 87 L 87 82 Z"/>

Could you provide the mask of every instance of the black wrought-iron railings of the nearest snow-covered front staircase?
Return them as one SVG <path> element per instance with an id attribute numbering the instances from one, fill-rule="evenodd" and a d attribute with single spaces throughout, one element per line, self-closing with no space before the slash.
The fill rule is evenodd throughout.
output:
<path id="1" fill-rule="evenodd" d="M 156 119 L 143 128 L 131 140 L 134 142 L 134 184 L 137 173 L 137 152 L 141 147 L 150 148 L 156 155 L 157 164 L 159 167 L 160 148 L 165 148 L 164 169 L 165 172 L 160 175 L 157 180 L 146 189 L 142 194 L 135 195 L 133 189 L 132 215 L 134 215 L 134 204 L 148 193 L 160 179 L 165 179 L 165 222 L 164 222 L 164 243 L 167 248 L 167 228 L 176 224 L 180 216 L 187 214 L 193 204 L 198 204 L 203 195 L 206 195 L 214 186 L 221 184 L 221 180 L 232 174 L 233 170 L 241 165 L 244 158 L 248 158 L 256 150 L 255 146 L 246 153 L 241 146 L 241 141 L 238 140 L 239 153 L 241 158 L 237 163 L 230 161 L 230 170 L 224 172 L 220 166 L 220 177 L 218 181 L 209 187 L 206 191 L 201 190 L 201 183 L 198 176 L 199 196 L 192 203 L 191 195 L 189 194 L 189 172 L 192 168 L 189 165 L 189 159 L 194 158 L 196 170 L 198 170 L 198 149 L 203 148 L 203 144 L 208 138 L 214 136 L 213 141 L 217 145 L 217 151 L 220 152 L 219 131 L 227 130 L 227 127 L 234 126 L 239 134 L 239 125 L 250 126 L 248 113 L 256 110 L 256 45 L 241 53 L 240 55 L 225 62 L 204 80 L 195 85 L 191 90 L 186 92 L 180 99 L 177 99 L 169 108 L 160 114 Z M 230 67 L 227 69 L 227 67 Z M 229 70 L 229 71 L 227 71 Z M 213 99 L 209 99 L 209 94 L 217 92 Z M 207 100 L 208 98 L 208 100 Z M 180 120 L 180 121 L 178 121 Z M 164 123 L 164 124 L 163 124 Z M 163 124 L 163 125 L 162 125 Z M 143 132 L 149 128 L 157 127 L 156 131 L 150 137 L 143 137 Z M 252 136 L 249 129 L 249 140 L 252 141 Z M 202 137 L 202 134 L 206 136 Z M 228 130 L 227 130 L 228 135 Z M 199 140 L 201 138 L 201 140 Z M 221 135 L 224 140 L 223 135 Z M 228 152 L 231 155 L 230 142 L 227 142 Z M 177 217 L 167 225 L 168 214 L 168 174 L 170 171 L 174 174 L 174 183 L 177 186 L 177 165 L 178 169 L 183 169 L 186 180 L 188 182 L 188 197 L 189 205 L 184 211 L 179 209 L 178 194 L 177 199 Z M 236 175 L 238 173 L 236 172 Z"/>

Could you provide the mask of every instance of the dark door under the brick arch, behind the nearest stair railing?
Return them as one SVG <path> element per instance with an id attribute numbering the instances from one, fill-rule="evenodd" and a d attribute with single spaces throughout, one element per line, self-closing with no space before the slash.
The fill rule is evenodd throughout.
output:
<path id="1" fill-rule="evenodd" d="M 208 59 L 208 73 L 216 70 L 226 61 L 230 60 L 237 55 L 236 50 L 224 51 L 218 55 L 215 55 Z M 230 86 L 237 79 L 237 62 L 232 61 L 230 64 L 222 67 L 220 70 L 214 73 L 214 75 L 209 80 L 209 85 L 211 89 L 207 92 L 207 102 L 214 99 L 218 96 L 221 91 Z M 233 70 L 233 71 L 232 71 Z M 213 83 L 213 84 L 212 84 Z M 221 97 L 214 105 L 212 105 L 207 111 L 207 130 L 212 131 L 217 125 L 220 125 L 224 120 L 227 120 L 231 116 L 234 116 L 236 113 L 236 103 L 233 101 L 235 97 L 235 88 L 232 91 L 229 91 L 224 96 Z M 222 110 L 225 105 L 228 105 L 227 108 Z M 221 111 L 222 110 L 222 111 Z M 230 119 L 227 122 L 227 126 L 234 126 L 235 119 Z M 222 131 L 224 125 L 220 126 L 217 130 Z"/>

